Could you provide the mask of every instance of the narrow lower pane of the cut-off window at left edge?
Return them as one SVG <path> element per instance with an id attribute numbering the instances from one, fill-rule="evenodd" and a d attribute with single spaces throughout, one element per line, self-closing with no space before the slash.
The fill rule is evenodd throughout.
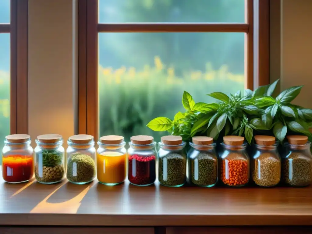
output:
<path id="1" fill-rule="evenodd" d="M 3 139 L 8 134 L 10 134 L 10 34 L 0 33 L 0 150 L 3 147 Z"/>

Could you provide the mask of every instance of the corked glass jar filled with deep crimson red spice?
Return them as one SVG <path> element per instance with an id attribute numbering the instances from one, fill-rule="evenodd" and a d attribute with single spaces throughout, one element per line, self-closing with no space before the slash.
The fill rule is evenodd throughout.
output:
<path id="1" fill-rule="evenodd" d="M 156 142 L 151 136 L 130 138 L 128 149 L 128 180 L 139 186 L 148 186 L 156 180 Z"/>

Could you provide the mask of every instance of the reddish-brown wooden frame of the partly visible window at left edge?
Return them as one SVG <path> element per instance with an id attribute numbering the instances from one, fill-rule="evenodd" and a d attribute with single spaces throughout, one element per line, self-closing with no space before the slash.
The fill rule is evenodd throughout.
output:
<path id="1" fill-rule="evenodd" d="M 10 23 L 10 134 L 28 133 L 28 0 L 11 0 Z"/>

